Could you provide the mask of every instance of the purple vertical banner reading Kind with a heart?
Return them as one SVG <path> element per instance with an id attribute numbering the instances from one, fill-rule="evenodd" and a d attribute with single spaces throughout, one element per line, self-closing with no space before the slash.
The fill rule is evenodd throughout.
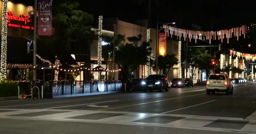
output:
<path id="1" fill-rule="evenodd" d="M 53 0 L 38 0 L 38 35 L 52 34 L 52 5 Z"/>

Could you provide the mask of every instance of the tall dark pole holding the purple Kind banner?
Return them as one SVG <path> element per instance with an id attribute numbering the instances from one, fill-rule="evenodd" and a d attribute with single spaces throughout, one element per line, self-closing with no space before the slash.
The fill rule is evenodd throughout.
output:
<path id="1" fill-rule="evenodd" d="M 34 51 L 33 51 L 33 67 L 37 64 L 37 0 L 34 5 Z M 36 80 L 37 72 L 33 70 L 33 80 Z"/>

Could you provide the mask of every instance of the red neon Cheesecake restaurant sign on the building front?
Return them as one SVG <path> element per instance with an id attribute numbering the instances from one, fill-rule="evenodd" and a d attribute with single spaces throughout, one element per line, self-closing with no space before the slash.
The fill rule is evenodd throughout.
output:
<path id="1" fill-rule="evenodd" d="M 13 24 L 13 23 L 10 23 L 12 20 L 14 20 L 14 21 L 24 22 L 24 24 L 26 25 L 27 23 L 32 22 L 32 20 L 29 19 L 28 17 L 29 17 L 29 15 L 15 16 L 15 15 L 13 14 L 13 12 L 7 11 L 7 23 L 8 23 L 8 26 L 16 27 L 16 28 L 23 28 L 23 29 L 31 29 L 31 30 L 33 30 L 34 27 L 32 27 L 32 26 L 24 26 L 24 25 L 20 25 L 20 24 Z"/>

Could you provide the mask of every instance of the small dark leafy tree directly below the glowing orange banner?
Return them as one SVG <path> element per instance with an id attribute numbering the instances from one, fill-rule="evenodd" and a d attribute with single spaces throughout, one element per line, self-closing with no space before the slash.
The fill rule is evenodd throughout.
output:
<path id="1" fill-rule="evenodd" d="M 163 70 L 164 75 L 168 74 L 174 64 L 178 64 L 178 59 L 175 57 L 175 54 L 167 54 L 166 56 L 158 57 L 158 67 L 160 70 Z M 168 69 L 167 72 L 166 69 Z"/>

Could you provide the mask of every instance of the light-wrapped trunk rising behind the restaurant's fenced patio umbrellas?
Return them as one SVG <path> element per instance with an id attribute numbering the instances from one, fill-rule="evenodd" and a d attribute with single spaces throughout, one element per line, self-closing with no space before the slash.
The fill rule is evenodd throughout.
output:
<path id="1" fill-rule="evenodd" d="M 99 16 L 99 28 L 98 28 L 98 66 L 101 66 L 101 58 L 102 58 L 102 47 L 101 47 L 101 41 L 102 41 L 102 22 L 103 22 L 103 16 Z M 101 73 L 98 74 L 98 80 L 100 80 Z"/>

